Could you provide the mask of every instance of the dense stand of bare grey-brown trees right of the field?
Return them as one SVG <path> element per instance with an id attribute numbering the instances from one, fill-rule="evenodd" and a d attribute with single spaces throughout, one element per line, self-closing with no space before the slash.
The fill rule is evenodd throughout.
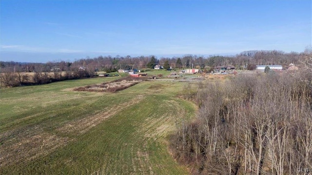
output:
<path id="1" fill-rule="evenodd" d="M 200 108 L 171 138 L 176 159 L 194 174 L 292 175 L 311 169 L 311 55 L 306 59 L 295 74 L 269 71 L 186 86 L 183 97 Z"/>

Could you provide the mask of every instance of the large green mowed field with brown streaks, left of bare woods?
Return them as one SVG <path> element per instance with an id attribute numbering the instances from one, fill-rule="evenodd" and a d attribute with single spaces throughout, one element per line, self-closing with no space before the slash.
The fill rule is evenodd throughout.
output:
<path id="1" fill-rule="evenodd" d="M 168 150 L 176 123 L 195 115 L 177 96 L 185 83 L 72 91 L 114 79 L 0 89 L 0 174 L 188 174 Z"/>

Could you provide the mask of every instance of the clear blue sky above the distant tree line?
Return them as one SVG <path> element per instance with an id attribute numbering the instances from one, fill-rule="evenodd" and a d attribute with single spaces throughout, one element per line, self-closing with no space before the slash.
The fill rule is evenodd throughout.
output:
<path id="1" fill-rule="evenodd" d="M 0 0 L 0 60 L 303 52 L 312 0 Z"/>

